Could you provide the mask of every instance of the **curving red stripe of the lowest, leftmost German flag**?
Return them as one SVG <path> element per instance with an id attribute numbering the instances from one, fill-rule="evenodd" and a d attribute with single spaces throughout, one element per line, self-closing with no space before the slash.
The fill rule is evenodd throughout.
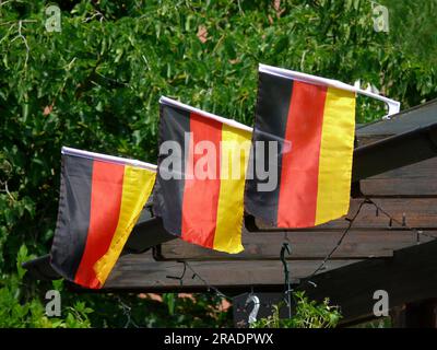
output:
<path id="1" fill-rule="evenodd" d="M 125 166 L 94 161 L 90 226 L 74 282 L 99 288 L 94 264 L 108 250 L 120 214 Z"/>

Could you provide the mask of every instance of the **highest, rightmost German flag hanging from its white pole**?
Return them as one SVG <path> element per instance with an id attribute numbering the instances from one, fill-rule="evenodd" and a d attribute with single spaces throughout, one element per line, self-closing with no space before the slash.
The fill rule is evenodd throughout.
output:
<path id="1" fill-rule="evenodd" d="M 273 167 L 277 186 L 260 192 L 265 180 L 255 172 L 246 185 L 248 213 L 277 228 L 314 226 L 347 213 L 355 93 L 335 83 L 343 84 L 260 66 L 253 142 L 263 141 L 263 153 L 253 159 Z M 269 154 L 269 141 L 277 142 L 277 154 Z"/>

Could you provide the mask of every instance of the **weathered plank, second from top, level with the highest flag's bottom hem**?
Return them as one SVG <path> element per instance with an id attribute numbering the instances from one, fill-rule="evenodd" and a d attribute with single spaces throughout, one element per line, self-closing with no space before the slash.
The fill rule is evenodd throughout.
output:
<path id="1" fill-rule="evenodd" d="M 349 217 L 352 217 L 363 199 L 352 199 Z M 374 201 L 390 213 L 394 219 L 402 222 L 405 215 L 405 224 L 417 229 L 437 229 L 437 198 L 374 198 Z M 377 215 L 373 205 L 365 205 L 354 222 L 354 229 L 387 229 L 389 219 L 382 213 Z M 318 225 L 315 230 L 339 230 L 346 228 L 349 222 L 343 219 Z M 258 228 L 268 231 L 281 231 L 257 221 Z M 392 228 L 401 228 L 395 222 Z M 283 230 L 282 230 L 283 231 Z M 302 231 L 302 230 L 296 230 Z"/>

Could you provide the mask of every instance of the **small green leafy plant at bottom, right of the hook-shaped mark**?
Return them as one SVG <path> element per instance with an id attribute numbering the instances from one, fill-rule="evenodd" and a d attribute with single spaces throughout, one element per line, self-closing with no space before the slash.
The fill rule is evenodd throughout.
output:
<path id="1" fill-rule="evenodd" d="M 341 319 L 339 308 L 329 305 L 328 299 L 317 303 L 308 300 L 305 292 L 294 292 L 293 299 L 296 307 L 291 318 L 280 318 L 283 305 L 274 305 L 273 315 L 255 322 L 251 328 L 333 328 Z"/>

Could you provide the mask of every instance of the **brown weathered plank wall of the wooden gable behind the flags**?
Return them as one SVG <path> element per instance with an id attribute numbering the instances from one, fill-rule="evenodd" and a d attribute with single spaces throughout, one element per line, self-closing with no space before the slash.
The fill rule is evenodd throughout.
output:
<path id="1" fill-rule="evenodd" d="M 376 195 L 374 200 L 399 221 L 406 225 L 437 235 L 437 159 L 405 166 L 374 176 L 363 182 L 366 195 Z M 363 199 L 353 199 L 349 217 L 352 217 Z M 125 255 L 116 265 L 106 290 L 138 291 L 200 291 L 208 290 L 204 282 L 192 279 L 186 272 L 184 283 L 167 276 L 180 276 L 184 264 L 190 266 L 209 284 L 224 291 L 246 292 L 250 285 L 262 290 L 283 289 L 283 266 L 279 259 L 283 242 L 291 244 L 288 259 L 292 279 L 295 283 L 310 275 L 335 246 L 349 222 L 342 218 L 312 229 L 282 232 L 258 222 L 260 232 L 244 232 L 245 252 L 237 255 L 217 253 L 173 240 L 140 255 Z M 377 214 L 374 206 L 365 205 L 352 231 L 333 254 L 327 269 L 335 269 L 362 259 L 370 264 L 390 259 L 393 252 L 415 246 L 417 236 L 405 226 L 392 222 L 381 212 Z M 430 237 L 422 236 L 421 242 Z M 383 258 L 383 260 L 380 260 Z M 383 262 L 382 262 L 383 265 Z M 358 271 L 356 272 L 358 273 Z M 359 273 L 358 273 L 359 276 Z M 364 275 L 369 279 L 368 275 Z M 346 305 L 347 306 L 347 305 Z"/>

